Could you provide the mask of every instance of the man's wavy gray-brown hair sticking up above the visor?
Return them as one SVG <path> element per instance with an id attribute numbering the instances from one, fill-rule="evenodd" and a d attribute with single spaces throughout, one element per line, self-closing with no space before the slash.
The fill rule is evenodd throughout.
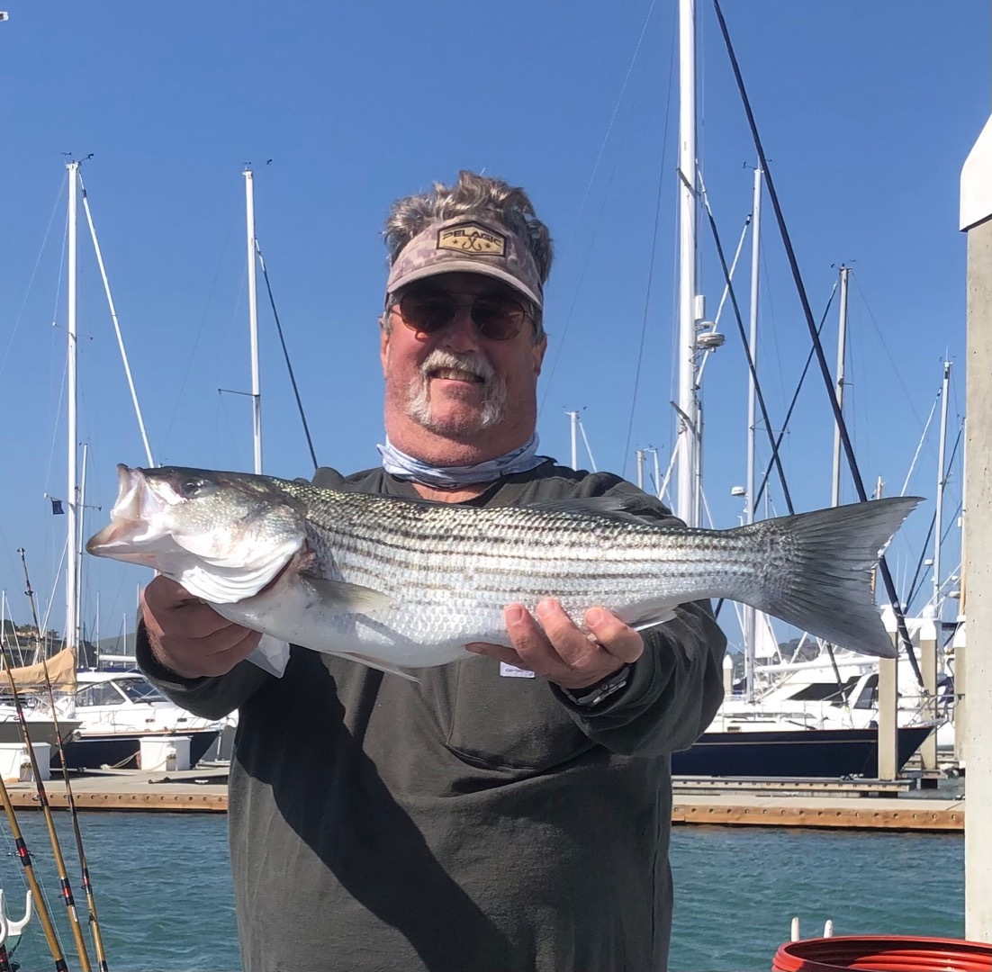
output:
<path id="1" fill-rule="evenodd" d="M 526 241 L 541 275 L 542 286 L 547 283 L 554 259 L 552 238 L 548 227 L 538 219 L 530 196 L 519 186 L 464 169 L 458 173 L 458 182 L 454 185 L 434 182 L 430 192 L 405 196 L 390 206 L 383 229 L 390 264 L 394 264 L 403 248 L 431 223 L 455 216 L 495 219 L 512 230 Z M 531 315 L 537 343 L 545 336 L 544 315 L 540 307 L 533 305 Z"/>

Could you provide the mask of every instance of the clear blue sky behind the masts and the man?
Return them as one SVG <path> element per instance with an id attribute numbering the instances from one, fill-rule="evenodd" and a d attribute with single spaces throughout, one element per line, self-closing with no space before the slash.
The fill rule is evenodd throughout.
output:
<path id="1" fill-rule="evenodd" d="M 756 157 L 712 7 L 698 7 L 701 167 L 732 254 Z M 93 153 L 82 176 L 157 462 L 251 467 L 248 400 L 217 391 L 249 388 L 241 171 L 251 163 L 258 237 L 322 463 L 378 460 L 388 204 L 469 168 L 524 185 L 556 240 L 543 451 L 568 461 L 565 412 L 580 409 L 598 468 L 634 478 L 634 449 L 648 445 L 667 464 L 677 397 L 674 0 L 7 0 L 6 9 L 0 587 L 16 620 L 29 619 L 17 547 L 43 610 L 55 591 L 50 625 L 61 630 L 64 618 L 65 520 L 45 498 L 65 494 L 63 153 Z M 725 14 L 817 313 L 836 265 L 854 268 L 848 419 L 869 491 L 881 477 L 898 493 L 945 356 L 951 441 L 963 415 L 958 178 L 992 104 L 989 5 L 760 0 L 727 2 Z M 759 370 L 776 425 L 809 339 L 771 212 L 766 196 Z M 712 314 L 722 277 L 705 223 L 700 239 Z M 745 313 L 748 252 L 737 278 Z M 86 501 L 102 506 L 87 513 L 88 536 L 112 505 L 115 464 L 144 455 L 84 224 L 79 253 L 79 431 Z M 265 468 L 306 475 L 259 286 Z M 835 308 L 824 328 L 831 367 Z M 703 381 L 704 488 L 715 524 L 730 527 L 741 509 L 730 490 L 745 478 L 746 366 L 729 304 L 720 324 L 727 342 Z M 798 509 L 829 503 L 831 445 L 812 373 L 784 451 Z M 760 464 L 767 456 L 762 444 Z M 919 556 L 935 479 L 934 424 L 910 484 L 929 503 L 892 548 L 897 577 Z M 948 525 L 959 498 L 957 476 Z M 772 504 L 784 512 L 777 486 Z M 955 538 L 945 556 L 956 564 Z M 100 634 L 114 634 L 150 574 L 88 556 L 84 567 L 88 633 L 99 593 Z"/>

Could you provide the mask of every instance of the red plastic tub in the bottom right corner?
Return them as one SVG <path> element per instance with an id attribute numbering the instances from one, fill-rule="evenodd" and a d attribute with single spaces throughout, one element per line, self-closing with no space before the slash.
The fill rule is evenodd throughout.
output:
<path id="1" fill-rule="evenodd" d="M 835 935 L 780 946 L 772 972 L 992 972 L 992 944 L 910 935 Z"/>

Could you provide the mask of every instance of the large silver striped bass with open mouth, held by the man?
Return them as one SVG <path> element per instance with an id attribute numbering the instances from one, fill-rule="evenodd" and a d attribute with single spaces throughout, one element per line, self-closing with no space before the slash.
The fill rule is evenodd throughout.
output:
<path id="1" fill-rule="evenodd" d="M 289 644 L 399 674 L 472 658 L 467 643 L 510 646 L 507 604 L 533 611 L 545 597 L 580 628 L 599 606 L 638 629 L 687 601 L 727 598 L 891 658 L 871 573 L 920 502 L 699 530 L 639 519 L 609 496 L 483 508 L 240 472 L 117 468 L 110 524 L 86 549 L 152 567 L 276 639 L 278 661 L 253 658 L 276 673 Z"/>

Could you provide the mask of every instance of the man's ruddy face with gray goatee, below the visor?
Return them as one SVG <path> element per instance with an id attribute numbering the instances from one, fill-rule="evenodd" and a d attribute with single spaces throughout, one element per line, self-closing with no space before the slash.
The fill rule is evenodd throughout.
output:
<path id="1" fill-rule="evenodd" d="M 533 431 L 546 340 L 534 343 L 534 321 L 529 316 L 516 336 L 498 340 L 480 332 L 471 315 L 477 298 L 509 298 L 524 306 L 527 302 L 500 281 L 467 273 L 419 281 L 400 296 L 405 294 L 426 297 L 428 302 L 432 295 L 440 295 L 441 304 L 449 295 L 454 314 L 450 323 L 424 333 L 404 322 L 399 306 L 390 309 L 390 328 L 388 333 L 382 330 L 380 351 L 391 437 L 398 427 L 415 432 L 414 426 L 419 426 L 443 438 L 478 438 L 480 444 L 488 440 L 498 446 L 504 438 L 519 437 L 525 425 Z M 479 312 L 476 316 L 482 317 Z"/>

